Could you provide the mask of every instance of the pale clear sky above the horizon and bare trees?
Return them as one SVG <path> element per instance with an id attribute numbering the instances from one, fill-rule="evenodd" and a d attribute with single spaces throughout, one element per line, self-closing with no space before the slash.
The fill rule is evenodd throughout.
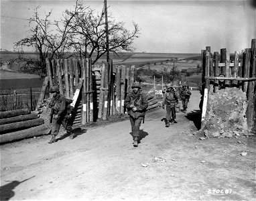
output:
<path id="1" fill-rule="evenodd" d="M 256 38 L 254 0 L 186 0 L 141 1 L 107 0 L 108 12 L 116 21 L 124 21 L 127 29 L 135 21 L 141 35 L 134 41 L 135 52 L 198 53 L 206 46 L 212 52 L 234 53 L 251 48 Z M 103 1 L 83 1 L 101 11 Z M 41 13 L 51 9 L 60 19 L 62 11 L 72 9 L 75 1 L 1 0 L 0 48 L 13 50 L 13 44 L 27 36 L 28 21 L 34 8 Z M 253 5 L 254 4 L 254 5 Z"/>

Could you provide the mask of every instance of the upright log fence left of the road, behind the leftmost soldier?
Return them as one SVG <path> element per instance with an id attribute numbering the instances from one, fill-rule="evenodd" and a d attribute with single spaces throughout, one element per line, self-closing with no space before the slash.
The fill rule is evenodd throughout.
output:
<path id="1" fill-rule="evenodd" d="M 73 98 L 76 89 L 80 94 L 75 105 L 73 125 L 82 125 L 108 119 L 115 113 L 125 113 L 124 100 L 135 81 L 135 66 L 113 66 L 109 64 L 93 67 L 90 59 L 64 60 L 46 59 L 48 77 L 43 84 L 38 100 L 40 107 L 46 88 L 58 85 L 60 94 Z"/>

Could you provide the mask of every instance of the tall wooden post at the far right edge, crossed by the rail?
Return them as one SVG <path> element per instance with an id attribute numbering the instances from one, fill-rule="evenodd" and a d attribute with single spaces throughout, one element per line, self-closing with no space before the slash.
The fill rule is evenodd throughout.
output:
<path id="1" fill-rule="evenodd" d="M 251 40 L 251 69 L 250 69 L 250 77 L 255 78 L 256 77 L 256 49 L 255 49 L 255 44 L 256 44 L 256 39 Z M 247 126 L 248 129 L 251 130 L 253 129 L 253 116 L 255 116 L 255 105 L 256 105 L 256 100 L 255 100 L 255 81 L 249 82 L 248 86 L 248 105 L 247 105 L 247 112 L 246 112 L 246 117 L 247 117 Z"/>

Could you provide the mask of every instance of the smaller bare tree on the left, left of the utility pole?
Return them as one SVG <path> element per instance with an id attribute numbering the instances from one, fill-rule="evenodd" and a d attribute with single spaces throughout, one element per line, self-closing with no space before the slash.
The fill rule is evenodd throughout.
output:
<path id="1" fill-rule="evenodd" d="M 76 6 L 77 3 L 74 12 L 76 12 Z M 62 58 L 65 55 L 64 51 L 69 50 L 67 41 L 70 28 L 68 24 L 74 15 L 70 15 L 70 19 L 62 23 L 50 19 L 52 11 L 45 13 L 44 18 L 40 18 L 39 9 L 40 6 L 36 7 L 34 15 L 29 19 L 28 36 L 16 42 L 14 47 L 19 52 L 17 60 L 22 63 L 21 70 L 46 73 L 46 58 L 50 60 Z M 38 58 L 27 56 L 24 48 L 32 48 L 38 53 Z"/>

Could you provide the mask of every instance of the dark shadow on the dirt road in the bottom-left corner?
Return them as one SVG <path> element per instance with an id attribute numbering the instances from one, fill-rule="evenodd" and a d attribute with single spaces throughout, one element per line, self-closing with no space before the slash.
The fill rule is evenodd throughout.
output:
<path id="1" fill-rule="evenodd" d="M 34 177 L 35 176 L 33 176 L 31 178 L 34 178 Z M 31 178 L 28 178 L 27 180 L 29 180 Z M 15 192 L 13 191 L 13 189 L 16 188 L 16 186 L 18 186 L 19 184 L 21 184 L 27 180 L 23 180 L 22 182 L 15 180 L 8 184 L 0 186 L 0 200 L 10 200 L 15 195 Z"/>

